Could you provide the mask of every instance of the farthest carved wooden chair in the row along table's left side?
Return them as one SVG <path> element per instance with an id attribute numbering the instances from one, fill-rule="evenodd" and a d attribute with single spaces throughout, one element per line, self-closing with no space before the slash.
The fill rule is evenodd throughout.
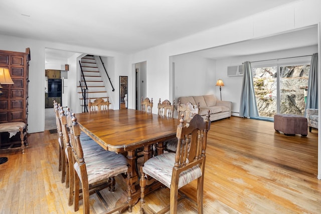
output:
<path id="1" fill-rule="evenodd" d="M 58 165 L 58 170 L 61 171 L 61 182 L 65 182 L 65 172 L 66 172 L 66 154 L 65 154 L 65 147 L 64 147 L 64 141 L 63 141 L 63 135 L 62 135 L 62 130 L 61 130 L 61 122 L 59 119 L 59 109 L 60 109 L 60 104 L 57 102 L 54 102 L 55 107 L 55 115 L 56 115 L 56 125 L 57 125 L 57 136 L 58 136 L 58 145 L 59 145 L 59 165 Z M 67 185 L 67 183 L 66 183 Z"/>

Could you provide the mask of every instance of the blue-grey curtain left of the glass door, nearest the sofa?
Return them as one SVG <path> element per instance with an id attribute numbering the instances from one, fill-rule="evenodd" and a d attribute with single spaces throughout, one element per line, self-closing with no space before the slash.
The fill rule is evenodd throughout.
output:
<path id="1" fill-rule="evenodd" d="M 254 94 L 253 76 L 250 62 L 243 63 L 243 85 L 240 102 L 241 117 L 258 117 L 256 99 Z"/>

